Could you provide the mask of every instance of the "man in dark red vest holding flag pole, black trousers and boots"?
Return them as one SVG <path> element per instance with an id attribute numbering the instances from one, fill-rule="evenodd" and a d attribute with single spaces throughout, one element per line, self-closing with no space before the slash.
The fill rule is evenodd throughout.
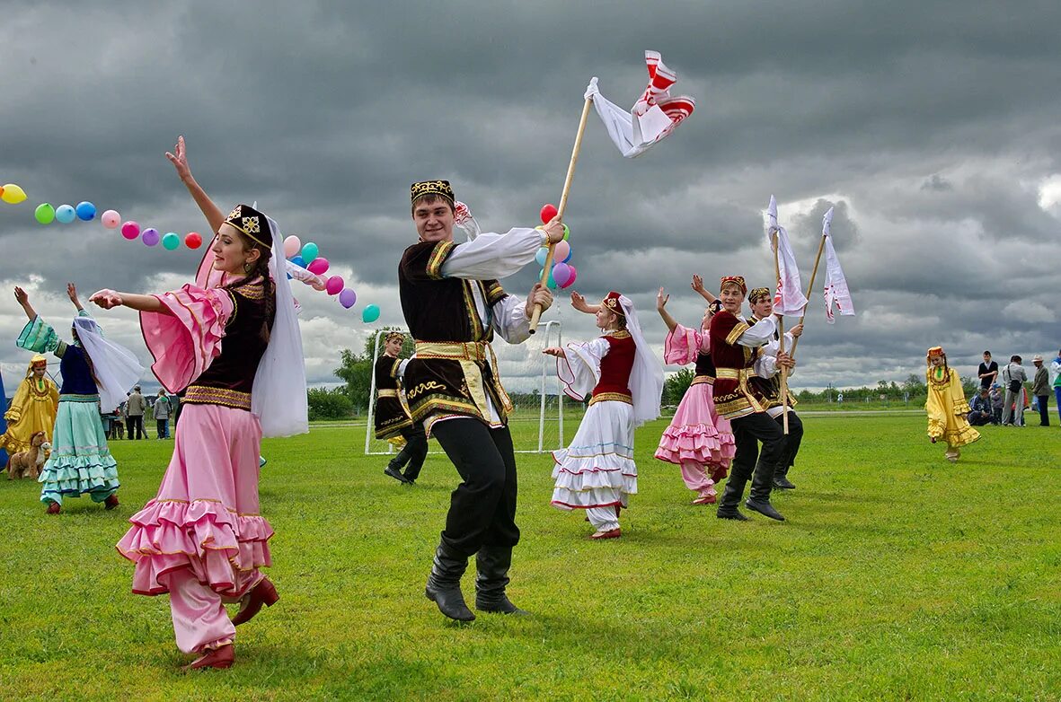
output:
<path id="1" fill-rule="evenodd" d="M 784 521 L 770 504 L 773 487 L 773 472 L 784 453 L 784 433 L 766 408 L 769 401 L 749 383 L 754 373 L 754 364 L 760 347 L 769 344 L 777 332 L 772 316 L 749 326 L 741 317 L 741 305 L 748 288 L 742 276 L 727 276 L 721 279 L 718 297 L 723 309 L 711 319 L 709 337 L 711 357 L 715 362 L 715 407 L 718 414 L 730 421 L 736 454 L 726 481 L 717 516 L 724 520 L 747 520 L 737 505 L 744 496 L 748 479 L 751 493 L 745 506 L 771 520 Z M 788 368 L 793 362 L 786 353 L 779 353 L 777 363 Z M 763 443 L 762 452 L 759 442 Z M 758 463 L 756 463 L 758 458 Z"/>

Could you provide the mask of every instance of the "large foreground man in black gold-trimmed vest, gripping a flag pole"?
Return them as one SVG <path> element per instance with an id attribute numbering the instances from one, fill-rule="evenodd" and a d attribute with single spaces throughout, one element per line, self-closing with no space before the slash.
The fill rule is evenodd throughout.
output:
<path id="1" fill-rule="evenodd" d="M 416 339 L 416 354 L 405 368 L 406 398 L 413 421 L 425 423 L 462 478 L 450 497 L 425 594 L 446 616 L 474 619 L 460 577 L 477 554 L 475 607 L 521 612 L 505 595 L 512 547 L 520 539 L 516 455 L 507 425 L 511 402 L 490 340 L 494 332 L 509 344 L 525 340 L 534 306 L 547 308 L 553 298 L 536 284 L 524 303 L 497 279 L 534 261 L 540 247 L 561 241 L 563 225 L 554 218 L 542 229 L 481 233 L 456 244 L 449 181 L 413 183 L 411 195 L 420 241 L 405 249 L 398 266 L 402 312 Z"/>

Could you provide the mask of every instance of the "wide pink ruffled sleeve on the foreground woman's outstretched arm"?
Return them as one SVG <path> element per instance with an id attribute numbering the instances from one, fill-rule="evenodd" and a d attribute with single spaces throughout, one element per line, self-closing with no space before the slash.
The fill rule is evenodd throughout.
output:
<path id="1" fill-rule="evenodd" d="M 155 378 L 168 391 L 178 392 L 221 354 L 232 298 L 216 287 L 191 284 L 155 297 L 168 313 L 141 312 L 140 329 L 155 359 Z"/>

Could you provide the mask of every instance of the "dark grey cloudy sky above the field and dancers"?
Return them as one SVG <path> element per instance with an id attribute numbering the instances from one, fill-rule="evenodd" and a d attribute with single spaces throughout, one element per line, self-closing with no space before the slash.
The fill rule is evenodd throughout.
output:
<path id="1" fill-rule="evenodd" d="M 623 106 L 644 89 L 645 49 L 696 112 L 626 160 L 591 116 L 567 212 L 577 289 L 643 310 L 655 291 L 695 324 L 696 273 L 767 284 L 763 211 L 776 194 L 804 284 L 821 214 L 858 315 L 824 322 L 815 284 L 796 387 L 902 381 L 941 344 L 972 373 L 1061 346 L 1061 4 L 1057 2 L 48 2 L 0 23 L 0 368 L 7 391 L 24 285 L 65 328 L 64 285 L 157 292 L 201 253 L 126 242 L 100 223 L 37 225 L 81 200 L 160 231 L 204 226 L 163 153 L 178 134 L 219 205 L 257 200 L 316 242 L 355 288 L 343 310 L 302 288 L 311 383 L 338 349 L 401 324 L 396 265 L 415 239 L 408 183 L 448 178 L 486 230 L 537 224 L 559 198 L 593 75 Z M 525 294 L 528 266 L 504 281 Z M 570 306 L 564 337 L 593 333 Z M 149 356 L 128 311 L 98 311 Z M 503 345 L 503 344 L 502 344 Z M 661 349 L 660 349 L 661 351 Z M 152 379 L 153 380 L 153 379 Z M 145 383 L 146 384 L 146 383 Z"/>

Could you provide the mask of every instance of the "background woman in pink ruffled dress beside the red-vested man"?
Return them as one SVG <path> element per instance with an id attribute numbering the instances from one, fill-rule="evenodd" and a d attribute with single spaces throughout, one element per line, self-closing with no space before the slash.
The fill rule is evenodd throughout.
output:
<path id="1" fill-rule="evenodd" d="M 698 284 L 702 289 L 702 280 L 694 276 L 693 289 Z M 711 361 L 708 329 L 716 312 L 713 305 L 720 308 L 720 303 L 709 300 L 700 328 L 693 330 L 679 324 L 666 311 L 669 299 L 661 287 L 656 296 L 656 311 L 668 330 L 663 343 L 663 362 L 682 366 L 696 363 L 696 375 L 682 396 L 671 425 L 660 437 L 656 458 L 681 467 L 685 487 L 696 493 L 694 505 L 713 505 L 717 499 L 715 484 L 726 477 L 735 451 L 729 420 L 718 415 L 712 393 L 715 365 Z"/>

